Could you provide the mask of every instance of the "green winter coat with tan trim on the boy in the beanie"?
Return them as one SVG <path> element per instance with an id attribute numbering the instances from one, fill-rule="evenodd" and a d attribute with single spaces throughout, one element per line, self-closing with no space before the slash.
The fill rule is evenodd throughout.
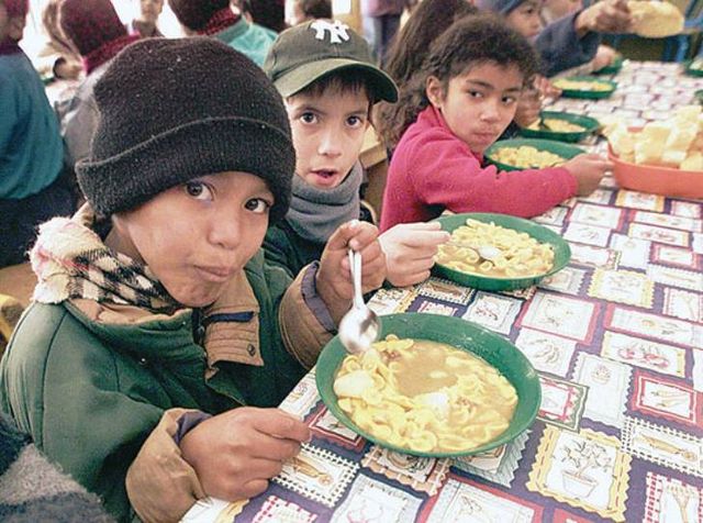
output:
<path id="1" fill-rule="evenodd" d="M 239 276 L 227 289 L 235 307 L 215 307 L 219 300 L 205 312 L 207 329 L 190 309 L 114 322 L 142 310 L 104 310 L 88 300 L 34 303 L 0 364 L 2 410 L 114 516 L 132 519 L 125 476 L 167 410 L 275 407 L 304 375 L 299 360 L 309 365 L 324 343 L 310 342 L 322 331 L 302 300 L 301 278 L 287 292 L 290 279 L 265 265 L 260 252 L 245 274 L 248 286 Z M 248 304 L 259 311 L 246 321 L 252 308 L 243 310 L 242 297 L 252 291 Z M 193 333 L 204 334 L 207 348 Z M 308 354 L 291 355 L 295 340 L 306 342 Z"/>

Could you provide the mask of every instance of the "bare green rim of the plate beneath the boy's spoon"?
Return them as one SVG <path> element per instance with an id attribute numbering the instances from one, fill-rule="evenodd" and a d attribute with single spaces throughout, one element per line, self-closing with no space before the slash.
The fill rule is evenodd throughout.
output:
<path id="1" fill-rule="evenodd" d="M 429 340 L 440 342 L 470 352 L 483 358 L 515 387 L 517 407 L 505 432 L 495 439 L 472 450 L 458 453 L 421 453 L 398 447 L 378 439 L 358 427 L 337 403 L 334 392 L 334 378 L 342 361 L 347 356 L 338 336 L 335 336 L 322 350 L 315 368 L 317 390 L 330 412 L 343 424 L 377 445 L 404 454 L 425 457 L 469 456 L 490 450 L 510 442 L 528 429 L 535 421 L 542 403 L 542 388 L 537 372 L 515 345 L 491 331 L 460 318 L 438 314 L 404 313 L 381 316 L 381 338 L 395 334 L 402 338 Z"/>

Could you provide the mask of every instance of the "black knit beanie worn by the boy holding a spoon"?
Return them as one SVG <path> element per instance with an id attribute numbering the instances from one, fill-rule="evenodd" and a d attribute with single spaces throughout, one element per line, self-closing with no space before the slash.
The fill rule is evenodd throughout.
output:
<path id="1" fill-rule="evenodd" d="M 256 64 L 209 37 L 125 47 L 94 89 L 100 120 L 78 182 L 103 216 L 192 178 L 228 170 L 263 178 L 286 215 L 295 168 L 280 94 Z"/>

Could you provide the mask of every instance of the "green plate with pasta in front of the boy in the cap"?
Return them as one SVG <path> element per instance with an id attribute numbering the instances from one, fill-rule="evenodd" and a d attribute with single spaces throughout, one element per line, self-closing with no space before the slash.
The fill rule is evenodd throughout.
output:
<path id="1" fill-rule="evenodd" d="M 451 238 L 439 247 L 433 272 L 465 287 L 524 289 L 558 272 L 571 258 L 561 236 L 522 218 L 467 213 L 437 221 Z"/>

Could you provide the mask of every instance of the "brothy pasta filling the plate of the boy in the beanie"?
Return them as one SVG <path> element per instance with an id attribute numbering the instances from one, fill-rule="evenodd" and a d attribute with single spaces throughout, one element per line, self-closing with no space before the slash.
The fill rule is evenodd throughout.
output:
<path id="1" fill-rule="evenodd" d="M 466 350 L 388 336 L 348 355 L 335 377 L 339 408 L 364 431 L 415 452 L 464 452 L 505 432 L 513 386 Z"/>

